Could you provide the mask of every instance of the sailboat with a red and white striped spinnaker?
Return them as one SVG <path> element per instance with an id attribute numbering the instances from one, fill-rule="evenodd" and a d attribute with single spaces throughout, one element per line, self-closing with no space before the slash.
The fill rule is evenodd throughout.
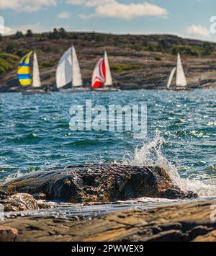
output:
<path id="1" fill-rule="evenodd" d="M 117 89 L 113 88 L 112 85 L 112 74 L 109 67 L 107 51 L 105 51 L 104 58 L 101 58 L 94 68 L 91 87 L 94 91 L 116 91 Z"/>

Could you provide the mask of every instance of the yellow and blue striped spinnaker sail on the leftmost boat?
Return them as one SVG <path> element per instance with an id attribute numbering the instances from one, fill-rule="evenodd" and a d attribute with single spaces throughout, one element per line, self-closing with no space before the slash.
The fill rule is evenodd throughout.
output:
<path id="1" fill-rule="evenodd" d="M 22 58 L 19 62 L 17 76 L 19 83 L 23 86 L 31 85 L 32 78 L 30 74 L 30 58 L 32 56 L 32 51 Z"/>

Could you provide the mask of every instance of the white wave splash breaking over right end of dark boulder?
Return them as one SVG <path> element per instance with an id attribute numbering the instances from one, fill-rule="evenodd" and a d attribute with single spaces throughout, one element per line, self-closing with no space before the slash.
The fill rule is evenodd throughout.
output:
<path id="1" fill-rule="evenodd" d="M 123 164 L 136 165 L 139 167 L 146 166 L 161 166 L 168 171 L 174 185 L 179 186 L 182 190 L 193 191 L 198 193 L 199 197 L 215 197 L 216 186 L 208 185 L 199 180 L 189 180 L 180 177 L 178 168 L 174 166 L 166 156 L 163 155 L 163 144 L 166 141 L 161 136 L 159 131 L 156 131 L 156 136 L 143 144 L 141 148 L 136 148 L 134 154 L 127 153 L 123 157 Z"/>

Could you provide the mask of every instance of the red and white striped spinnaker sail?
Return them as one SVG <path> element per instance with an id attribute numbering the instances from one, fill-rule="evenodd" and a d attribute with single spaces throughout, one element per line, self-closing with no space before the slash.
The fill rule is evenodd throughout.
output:
<path id="1" fill-rule="evenodd" d="M 106 82 L 106 66 L 104 58 L 101 58 L 96 63 L 95 69 L 92 74 L 92 88 L 102 87 Z"/>

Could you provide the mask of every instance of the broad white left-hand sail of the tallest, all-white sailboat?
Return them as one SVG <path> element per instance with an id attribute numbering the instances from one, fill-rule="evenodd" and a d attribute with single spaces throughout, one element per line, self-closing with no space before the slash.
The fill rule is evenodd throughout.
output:
<path id="1" fill-rule="evenodd" d="M 56 70 L 56 87 L 62 88 L 72 82 L 72 48 L 60 58 Z"/>

